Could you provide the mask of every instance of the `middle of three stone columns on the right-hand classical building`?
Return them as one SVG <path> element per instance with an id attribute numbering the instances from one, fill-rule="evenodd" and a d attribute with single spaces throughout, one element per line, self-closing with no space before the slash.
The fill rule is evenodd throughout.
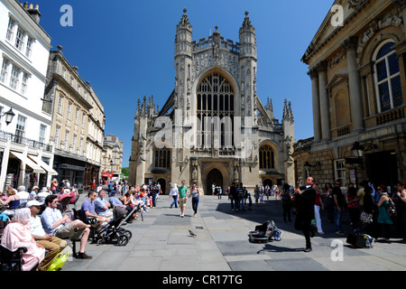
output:
<path id="1" fill-rule="evenodd" d="M 327 69 L 327 62 L 322 61 L 318 64 L 318 91 L 320 98 L 320 124 L 322 141 L 329 141 L 331 139 L 330 106 L 327 90 Z"/>

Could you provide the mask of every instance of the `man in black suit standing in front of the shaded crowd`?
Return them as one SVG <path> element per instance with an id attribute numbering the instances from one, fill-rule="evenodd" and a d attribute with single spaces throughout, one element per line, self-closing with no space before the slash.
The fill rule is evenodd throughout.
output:
<path id="1" fill-rule="evenodd" d="M 311 220 L 314 219 L 314 204 L 316 201 L 316 191 L 313 189 L 314 179 L 309 177 L 306 186 L 296 188 L 296 221 L 295 228 L 303 230 L 306 239 L 305 252 L 311 251 L 310 228 Z"/>

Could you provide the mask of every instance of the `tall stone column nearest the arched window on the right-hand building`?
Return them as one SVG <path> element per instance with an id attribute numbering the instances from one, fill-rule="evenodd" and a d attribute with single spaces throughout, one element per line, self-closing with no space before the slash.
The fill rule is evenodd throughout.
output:
<path id="1" fill-rule="evenodd" d="M 356 47 L 358 39 L 354 36 L 349 37 L 343 47 L 346 49 L 346 60 L 348 70 L 348 88 L 351 107 L 351 120 L 354 132 L 364 131 L 364 111 L 363 99 L 361 94 L 361 78 L 356 65 Z"/>

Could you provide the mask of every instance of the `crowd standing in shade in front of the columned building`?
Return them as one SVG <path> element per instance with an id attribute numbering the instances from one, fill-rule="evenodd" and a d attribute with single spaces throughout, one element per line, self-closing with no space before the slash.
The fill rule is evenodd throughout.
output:
<path id="1" fill-rule="evenodd" d="M 364 233 L 376 241 L 391 242 L 393 231 L 401 234 L 402 243 L 406 243 L 406 182 L 397 182 L 393 188 L 384 184 L 374 185 L 371 181 L 362 181 L 355 187 L 348 183 L 343 191 L 342 182 L 335 186 L 326 182 L 323 188 L 312 177 L 306 186 L 293 189 L 284 185 L 280 198 L 283 206 L 283 219 L 291 222 L 291 212 L 296 213 L 295 228 L 303 230 L 306 238 L 306 250 L 311 251 L 310 235 L 315 232 L 323 235 L 321 214 L 334 224 L 335 233 L 344 235 L 343 214 L 350 219 L 353 233 Z M 393 227 L 392 225 L 395 225 Z"/>

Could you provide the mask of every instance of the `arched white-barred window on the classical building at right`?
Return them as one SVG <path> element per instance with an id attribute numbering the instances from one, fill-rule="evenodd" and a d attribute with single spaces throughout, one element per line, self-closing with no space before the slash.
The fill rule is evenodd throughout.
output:
<path id="1" fill-rule="evenodd" d="M 398 55 L 391 48 L 394 44 L 392 41 L 383 43 L 374 57 L 375 85 L 380 112 L 401 107 L 403 102 Z"/>

